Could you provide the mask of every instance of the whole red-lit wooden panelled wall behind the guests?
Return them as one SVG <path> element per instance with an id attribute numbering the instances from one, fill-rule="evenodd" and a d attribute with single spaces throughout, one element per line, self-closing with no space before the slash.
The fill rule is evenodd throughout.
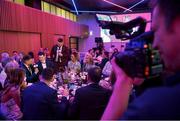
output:
<path id="1" fill-rule="evenodd" d="M 68 46 L 70 36 L 85 37 L 88 31 L 88 26 L 0 0 L 0 52 L 32 50 L 37 53 L 40 47 L 51 49 L 55 35 L 64 36 Z"/>

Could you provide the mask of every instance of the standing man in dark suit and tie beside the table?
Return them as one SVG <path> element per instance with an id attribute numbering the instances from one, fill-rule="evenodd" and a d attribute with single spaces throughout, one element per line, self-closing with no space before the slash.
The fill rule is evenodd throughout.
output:
<path id="1" fill-rule="evenodd" d="M 57 44 L 52 47 L 51 58 L 55 63 L 55 71 L 64 70 L 69 59 L 69 49 L 64 45 L 63 39 L 58 39 Z"/>

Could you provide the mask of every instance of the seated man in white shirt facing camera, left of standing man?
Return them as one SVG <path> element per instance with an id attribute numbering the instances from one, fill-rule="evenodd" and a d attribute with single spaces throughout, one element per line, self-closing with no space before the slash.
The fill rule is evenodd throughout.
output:
<path id="1" fill-rule="evenodd" d="M 46 59 L 46 55 L 44 52 L 38 53 L 39 61 L 37 62 L 39 73 L 41 74 L 43 69 L 45 68 L 52 68 L 54 69 L 54 63 L 50 60 Z"/>

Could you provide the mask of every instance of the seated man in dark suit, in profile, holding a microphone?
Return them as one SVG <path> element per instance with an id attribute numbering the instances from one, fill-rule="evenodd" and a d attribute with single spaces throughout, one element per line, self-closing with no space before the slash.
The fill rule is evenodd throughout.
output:
<path id="1" fill-rule="evenodd" d="M 34 83 L 38 81 L 38 68 L 33 67 L 32 58 L 29 55 L 25 55 L 23 57 L 23 63 L 21 64 L 21 68 L 23 68 L 26 72 L 26 81 L 28 83 Z"/>

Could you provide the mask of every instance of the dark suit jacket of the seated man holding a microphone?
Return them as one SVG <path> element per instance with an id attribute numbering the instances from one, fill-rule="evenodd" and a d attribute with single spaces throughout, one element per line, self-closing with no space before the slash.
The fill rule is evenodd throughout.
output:
<path id="1" fill-rule="evenodd" d="M 29 83 L 34 83 L 37 82 L 39 79 L 38 74 L 34 73 L 34 67 L 30 66 L 31 70 L 32 70 L 32 74 L 31 72 L 28 70 L 28 68 L 22 63 L 20 66 L 22 69 L 24 69 L 24 71 L 26 72 L 26 81 Z"/>

